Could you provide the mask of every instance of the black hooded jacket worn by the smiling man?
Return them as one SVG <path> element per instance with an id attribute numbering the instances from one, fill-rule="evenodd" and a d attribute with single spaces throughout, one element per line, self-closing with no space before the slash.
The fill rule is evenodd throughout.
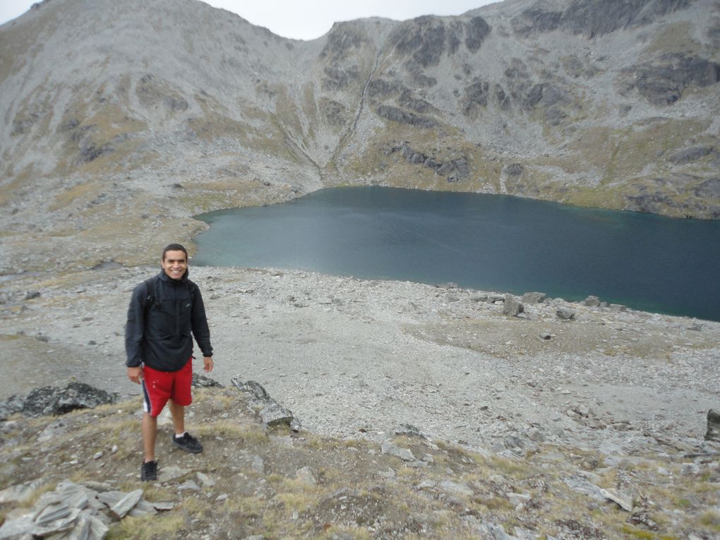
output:
<path id="1" fill-rule="evenodd" d="M 187 276 L 188 271 L 182 279 L 172 279 L 161 271 L 132 291 L 125 326 L 125 365 L 135 367 L 144 362 L 153 369 L 176 372 L 192 355 L 192 336 L 202 355 L 212 356 L 200 289 Z"/>

